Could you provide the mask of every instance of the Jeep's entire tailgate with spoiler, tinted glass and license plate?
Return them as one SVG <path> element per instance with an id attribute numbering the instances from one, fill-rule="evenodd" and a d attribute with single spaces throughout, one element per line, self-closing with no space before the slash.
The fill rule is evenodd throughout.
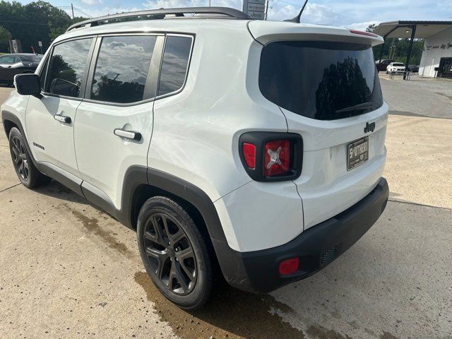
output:
<path id="1" fill-rule="evenodd" d="M 303 138 L 304 229 L 374 189 L 386 160 L 388 106 L 371 46 L 376 35 L 294 23 L 249 23 L 264 46 L 259 89 Z"/>

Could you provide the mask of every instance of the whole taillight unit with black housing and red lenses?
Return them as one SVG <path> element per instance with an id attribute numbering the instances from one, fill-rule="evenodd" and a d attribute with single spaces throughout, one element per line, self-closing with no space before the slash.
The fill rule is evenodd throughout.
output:
<path id="1" fill-rule="evenodd" d="M 258 182 L 299 177 L 302 148 L 302 137 L 295 133 L 248 132 L 239 138 L 239 153 L 245 170 Z"/>

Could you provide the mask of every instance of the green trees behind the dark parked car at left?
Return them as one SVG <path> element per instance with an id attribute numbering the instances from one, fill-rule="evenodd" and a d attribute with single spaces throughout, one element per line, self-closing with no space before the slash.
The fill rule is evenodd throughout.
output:
<path id="1" fill-rule="evenodd" d="M 74 21 L 85 20 L 75 19 Z M 35 52 L 40 52 L 38 41 L 42 41 L 44 52 L 72 23 L 73 20 L 65 11 L 45 1 L 26 5 L 18 1 L 0 1 L 0 25 L 11 32 L 13 39 L 20 40 L 23 52 L 32 52 L 31 46 Z M 7 52 L 7 47 L 0 44 L 0 51 Z"/>

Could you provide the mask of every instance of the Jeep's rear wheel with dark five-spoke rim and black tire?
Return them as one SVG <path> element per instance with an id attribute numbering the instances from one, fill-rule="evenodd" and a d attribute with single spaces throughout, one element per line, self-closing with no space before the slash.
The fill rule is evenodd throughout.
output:
<path id="1" fill-rule="evenodd" d="M 163 196 L 148 199 L 138 214 L 138 249 L 148 275 L 178 307 L 203 307 L 213 285 L 206 242 L 186 208 Z"/>

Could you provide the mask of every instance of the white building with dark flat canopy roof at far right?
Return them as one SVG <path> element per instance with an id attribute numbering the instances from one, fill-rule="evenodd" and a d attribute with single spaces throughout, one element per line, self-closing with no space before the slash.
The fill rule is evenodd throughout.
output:
<path id="1" fill-rule="evenodd" d="M 424 39 L 419 75 L 452 78 L 452 21 L 392 21 L 381 23 L 374 32 L 388 37 Z M 407 62 L 410 62 L 411 49 Z"/>

